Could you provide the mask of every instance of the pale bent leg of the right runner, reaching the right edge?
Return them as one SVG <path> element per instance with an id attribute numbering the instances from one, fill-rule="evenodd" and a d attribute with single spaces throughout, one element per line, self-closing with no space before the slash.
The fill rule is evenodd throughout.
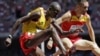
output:
<path id="1" fill-rule="evenodd" d="M 96 43 L 88 40 L 78 40 L 75 44 L 77 50 L 91 50 L 96 56 L 100 56 L 100 49 Z"/>

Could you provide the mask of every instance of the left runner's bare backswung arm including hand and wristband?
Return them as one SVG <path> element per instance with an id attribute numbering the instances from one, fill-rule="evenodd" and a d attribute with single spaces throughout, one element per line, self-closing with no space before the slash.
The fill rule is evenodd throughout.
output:
<path id="1" fill-rule="evenodd" d="M 32 13 L 32 14 L 28 14 L 26 16 L 23 16 L 21 18 L 19 18 L 18 20 L 16 20 L 14 26 L 12 27 L 12 30 L 10 31 L 9 36 L 6 38 L 4 44 L 8 47 L 11 45 L 12 42 L 12 36 L 15 33 L 15 31 L 18 29 L 18 27 L 20 26 L 21 23 L 29 21 L 29 20 L 34 20 L 36 21 L 36 19 L 38 19 L 40 17 L 39 13 Z"/>

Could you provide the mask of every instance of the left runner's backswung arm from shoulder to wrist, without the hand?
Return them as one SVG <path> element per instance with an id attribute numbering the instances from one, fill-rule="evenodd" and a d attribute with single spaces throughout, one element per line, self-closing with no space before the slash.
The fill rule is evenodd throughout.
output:
<path id="1" fill-rule="evenodd" d="M 12 30 L 10 31 L 10 34 L 13 35 L 14 32 L 18 29 L 19 25 L 23 22 L 27 22 L 27 21 L 38 21 L 41 15 L 41 10 L 43 10 L 42 7 L 39 7 L 31 12 L 29 12 L 27 15 L 19 18 L 18 20 L 16 20 Z"/>

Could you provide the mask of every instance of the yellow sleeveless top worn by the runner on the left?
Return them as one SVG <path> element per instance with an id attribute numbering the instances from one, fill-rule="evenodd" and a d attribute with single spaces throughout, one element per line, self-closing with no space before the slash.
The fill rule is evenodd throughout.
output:
<path id="1" fill-rule="evenodd" d="M 38 22 L 34 22 L 34 21 L 27 21 L 24 22 L 22 25 L 22 32 L 30 32 L 30 33 L 36 33 L 37 29 L 46 29 L 49 24 L 50 24 L 50 20 L 46 21 L 45 19 L 45 14 L 44 14 L 44 9 L 42 7 L 39 7 L 31 12 L 29 12 L 28 15 L 31 15 L 34 12 L 40 11 L 41 12 L 41 17 L 39 19 Z"/>

